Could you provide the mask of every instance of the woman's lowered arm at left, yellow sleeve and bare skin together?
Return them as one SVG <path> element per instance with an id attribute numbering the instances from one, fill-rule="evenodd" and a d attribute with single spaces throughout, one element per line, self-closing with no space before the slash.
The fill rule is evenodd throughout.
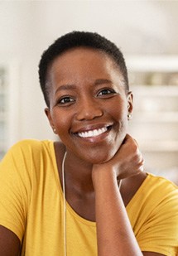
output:
<path id="1" fill-rule="evenodd" d="M 22 142 L 14 145 L 0 162 L 0 255 L 20 253 L 20 241 L 26 228 L 30 183 Z"/>

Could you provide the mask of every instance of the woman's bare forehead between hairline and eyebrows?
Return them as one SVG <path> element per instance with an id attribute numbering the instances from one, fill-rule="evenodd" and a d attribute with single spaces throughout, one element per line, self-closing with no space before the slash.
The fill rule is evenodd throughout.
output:
<path id="1" fill-rule="evenodd" d="M 48 85 L 93 84 L 108 79 L 124 87 L 123 75 L 115 61 L 103 51 L 77 47 L 65 51 L 53 60 L 47 75 Z"/>

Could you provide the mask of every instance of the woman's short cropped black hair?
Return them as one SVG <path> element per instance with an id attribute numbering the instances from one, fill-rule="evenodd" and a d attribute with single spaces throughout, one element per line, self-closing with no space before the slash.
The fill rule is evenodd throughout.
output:
<path id="1" fill-rule="evenodd" d="M 103 51 L 108 56 L 110 56 L 116 65 L 118 65 L 121 71 L 125 83 L 125 89 L 128 90 L 128 78 L 127 78 L 127 67 L 125 60 L 123 58 L 123 53 L 118 49 L 118 47 L 109 41 L 104 36 L 100 36 L 96 32 L 89 31 L 72 31 L 60 36 L 55 42 L 48 47 L 46 51 L 43 52 L 41 60 L 39 63 L 39 79 L 41 90 L 46 101 L 46 105 L 50 106 L 49 101 L 49 89 L 47 88 L 47 71 L 53 60 L 60 56 L 67 50 L 72 48 L 77 48 L 80 46 L 85 46 L 93 48 L 99 51 Z"/>

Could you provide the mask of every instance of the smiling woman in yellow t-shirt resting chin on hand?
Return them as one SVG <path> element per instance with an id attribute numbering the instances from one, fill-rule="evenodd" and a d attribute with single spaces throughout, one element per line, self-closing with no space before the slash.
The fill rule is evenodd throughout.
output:
<path id="1" fill-rule="evenodd" d="M 22 141 L 2 160 L 0 255 L 177 255 L 178 189 L 142 171 L 118 47 L 71 32 L 39 75 L 61 142 Z"/>

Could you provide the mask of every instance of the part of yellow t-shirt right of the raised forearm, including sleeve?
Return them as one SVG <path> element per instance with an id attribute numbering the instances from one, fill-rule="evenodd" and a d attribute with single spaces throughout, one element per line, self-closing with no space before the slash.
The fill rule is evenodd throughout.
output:
<path id="1" fill-rule="evenodd" d="M 178 189 L 149 175 L 128 205 L 128 215 L 142 251 L 178 255 Z"/>

